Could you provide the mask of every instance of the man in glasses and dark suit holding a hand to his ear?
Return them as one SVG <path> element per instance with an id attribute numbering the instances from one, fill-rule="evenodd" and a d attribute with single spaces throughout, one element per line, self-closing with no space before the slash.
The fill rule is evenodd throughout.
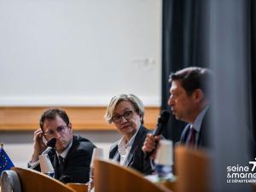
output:
<path id="1" fill-rule="evenodd" d="M 87 183 L 90 160 L 96 146 L 86 138 L 73 135 L 67 113 L 60 108 L 46 110 L 40 119 L 40 128 L 34 132 L 34 151 L 29 167 L 47 148 L 43 139 L 56 139 L 55 151 L 49 151 L 49 159 L 55 168 L 55 178 L 63 183 Z M 40 166 L 35 170 L 40 171 Z"/>

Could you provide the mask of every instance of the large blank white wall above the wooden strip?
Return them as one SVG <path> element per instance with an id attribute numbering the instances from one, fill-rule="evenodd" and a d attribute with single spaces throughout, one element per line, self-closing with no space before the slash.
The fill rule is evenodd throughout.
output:
<path id="1" fill-rule="evenodd" d="M 0 1 L 0 106 L 160 106 L 160 0 Z"/>

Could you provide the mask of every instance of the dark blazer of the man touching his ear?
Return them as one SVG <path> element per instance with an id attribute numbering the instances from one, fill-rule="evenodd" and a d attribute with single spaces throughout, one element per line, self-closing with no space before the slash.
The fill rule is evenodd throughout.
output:
<path id="1" fill-rule="evenodd" d="M 57 154 L 53 151 L 48 153 L 49 160 L 55 168 L 55 178 L 63 183 L 87 183 L 89 181 L 90 160 L 96 146 L 84 137 L 73 136 L 73 143 L 64 159 L 61 175 Z M 37 166 L 36 170 L 40 171 Z"/>

